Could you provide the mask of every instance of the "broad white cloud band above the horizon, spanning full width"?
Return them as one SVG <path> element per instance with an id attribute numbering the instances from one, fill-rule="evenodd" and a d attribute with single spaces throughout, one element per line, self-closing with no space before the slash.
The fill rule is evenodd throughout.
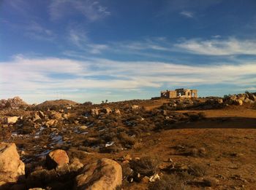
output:
<path id="1" fill-rule="evenodd" d="M 89 94 L 97 94 L 95 90 L 114 90 L 118 95 L 118 92 L 123 90 L 141 90 L 145 87 L 159 89 L 165 84 L 233 84 L 245 88 L 255 86 L 256 79 L 248 77 L 255 74 L 255 71 L 255 62 L 239 65 L 185 66 L 148 61 L 78 61 L 17 56 L 10 62 L 0 63 L 0 97 L 29 97 L 33 94 L 34 99 L 54 99 L 59 91 L 65 98 L 76 95 L 76 98 L 83 99 L 81 92 L 84 90 Z"/>

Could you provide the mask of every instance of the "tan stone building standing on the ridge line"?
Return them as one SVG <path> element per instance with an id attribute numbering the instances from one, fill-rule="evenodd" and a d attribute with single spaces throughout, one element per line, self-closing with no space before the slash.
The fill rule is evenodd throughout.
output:
<path id="1" fill-rule="evenodd" d="M 197 90 L 179 88 L 161 91 L 161 98 L 197 98 Z"/>

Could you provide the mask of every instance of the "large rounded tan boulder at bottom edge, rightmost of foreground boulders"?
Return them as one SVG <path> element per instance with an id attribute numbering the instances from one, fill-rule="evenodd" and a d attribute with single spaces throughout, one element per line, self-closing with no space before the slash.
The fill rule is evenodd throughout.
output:
<path id="1" fill-rule="evenodd" d="M 75 178 L 74 189 L 114 190 L 121 181 L 121 165 L 111 159 L 99 159 L 83 168 Z"/>

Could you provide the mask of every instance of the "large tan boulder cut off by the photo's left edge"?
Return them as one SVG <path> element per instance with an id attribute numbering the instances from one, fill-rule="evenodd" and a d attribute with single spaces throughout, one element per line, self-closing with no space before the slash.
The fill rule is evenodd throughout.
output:
<path id="1" fill-rule="evenodd" d="M 0 143 L 0 181 L 17 182 L 25 175 L 15 143 Z"/>

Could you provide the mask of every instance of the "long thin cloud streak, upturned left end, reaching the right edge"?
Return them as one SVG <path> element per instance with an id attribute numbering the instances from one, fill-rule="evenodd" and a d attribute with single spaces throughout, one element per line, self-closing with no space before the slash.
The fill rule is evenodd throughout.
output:
<path id="1" fill-rule="evenodd" d="M 236 55 L 256 55 L 256 41 L 254 39 L 225 39 L 217 35 L 211 36 L 211 39 L 182 39 L 173 43 L 163 37 L 147 37 L 138 41 L 94 44 L 91 43 L 84 33 L 78 32 L 75 34 L 74 31 L 72 31 L 72 33 L 70 33 L 70 39 L 72 39 L 72 44 L 80 47 L 80 50 L 92 54 L 111 52 L 116 55 L 141 55 L 143 58 L 170 58 L 170 56 L 167 56 L 166 52 L 178 52 L 186 54 L 187 56 L 192 54 L 225 56 L 226 59 L 232 60 L 233 56 Z M 79 55 L 79 52 L 75 54 Z M 75 54 L 72 53 L 72 57 L 74 57 Z"/>

